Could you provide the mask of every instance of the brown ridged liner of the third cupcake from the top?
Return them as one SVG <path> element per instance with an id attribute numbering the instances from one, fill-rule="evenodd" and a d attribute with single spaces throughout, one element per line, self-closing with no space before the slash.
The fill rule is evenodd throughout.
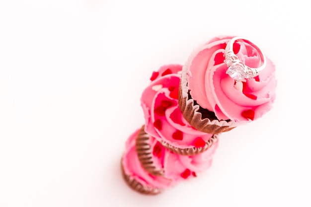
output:
<path id="1" fill-rule="evenodd" d="M 152 175 L 163 176 L 163 169 L 158 169 L 154 165 L 149 138 L 149 135 L 145 132 L 145 126 L 142 126 L 136 138 L 136 152 L 138 158 L 147 172 Z"/>

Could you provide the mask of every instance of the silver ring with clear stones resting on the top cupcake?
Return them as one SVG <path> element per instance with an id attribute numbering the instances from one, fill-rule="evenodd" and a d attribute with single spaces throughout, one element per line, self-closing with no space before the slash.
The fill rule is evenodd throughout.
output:
<path id="1" fill-rule="evenodd" d="M 234 42 L 245 42 L 252 46 L 260 57 L 260 66 L 259 68 L 250 68 L 246 66 L 242 61 L 238 59 L 238 57 L 233 52 L 233 43 Z M 226 57 L 225 63 L 228 66 L 226 71 L 227 74 L 230 75 L 235 81 L 239 81 L 244 78 L 253 78 L 256 77 L 262 70 L 266 67 L 266 57 L 262 53 L 262 51 L 249 40 L 242 37 L 233 37 L 227 44 L 225 49 Z"/>

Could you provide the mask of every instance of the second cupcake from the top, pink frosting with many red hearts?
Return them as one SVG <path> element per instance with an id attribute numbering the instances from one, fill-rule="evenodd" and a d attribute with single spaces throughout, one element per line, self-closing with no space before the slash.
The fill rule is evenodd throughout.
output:
<path id="1" fill-rule="evenodd" d="M 217 137 L 194 129 L 184 119 L 178 106 L 181 69 L 167 65 L 153 72 L 141 97 L 145 132 L 175 153 L 194 155 L 207 150 Z"/>

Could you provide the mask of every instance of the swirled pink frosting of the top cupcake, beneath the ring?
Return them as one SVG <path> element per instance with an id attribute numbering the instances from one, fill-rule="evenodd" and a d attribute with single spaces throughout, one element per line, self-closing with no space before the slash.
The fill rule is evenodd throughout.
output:
<path id="1" fill-rule="evenodd" d="M 266 68 L 255 78 L 235 83 L 226 74 L 224 63 L 227 43 L 232 37 L 216 37 L 196 50 L 188 61 L 188 88 L 191 97 L 202 107 L 215 112 L 219 120 L 246 123 L 260 118 L 275 100 L 275 66 L 267 58 Z M 257 68 L 260 57 L 243 42 L 235 42 L 234 52 L 245 65 Z"/>

